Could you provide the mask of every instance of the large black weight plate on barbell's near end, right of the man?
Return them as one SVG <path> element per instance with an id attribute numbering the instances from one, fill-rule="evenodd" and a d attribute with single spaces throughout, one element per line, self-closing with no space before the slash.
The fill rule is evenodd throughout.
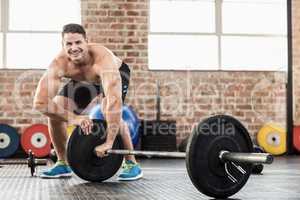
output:
<path id="1" fill-rule="evenodd" d="M 228 171 L 237 179 L 236 183 L 232 182 L 225 172 L 225 164 L 219 159 L 222 150 L 253 151 L 249 133 L 238 120 L 217 115 L 193 129 L 187 145 L 187 171 L 194 186 L 214 198 L 227 198 L 237 193 L 246 184 L 252 169 L 251 164 L 235 163 L 246 171 L 242 174 L 228 164 Z"/>

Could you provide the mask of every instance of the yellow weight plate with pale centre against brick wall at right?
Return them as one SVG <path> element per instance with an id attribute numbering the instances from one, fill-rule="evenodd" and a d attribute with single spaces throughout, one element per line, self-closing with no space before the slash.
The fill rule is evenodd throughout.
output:
<path id="1" fill-rule="evenodd" d="M 276 124 L 265 124 L 257 134 L 257 142 L 268 153 L 284 154 L 286 152 L 286 131 Z"/>

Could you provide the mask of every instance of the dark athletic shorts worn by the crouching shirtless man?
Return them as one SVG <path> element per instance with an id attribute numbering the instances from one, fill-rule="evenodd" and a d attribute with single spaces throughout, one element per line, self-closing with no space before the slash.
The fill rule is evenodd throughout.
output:
<path id="1" fill-rule="evenodd" d="M 124 102 L 129 86 L 130 69 L 126 63 L 122 63 L 119 71 L 122 80 L 122 100 Z M 89 84 L 86 82 L 70 80 L 63 86 L 57 95 L 72 99 L 78 108 L 74 112 L 80 114 L 89 103 L 101 93 L 103 96 L 105 95 L 101 84 Z"/>

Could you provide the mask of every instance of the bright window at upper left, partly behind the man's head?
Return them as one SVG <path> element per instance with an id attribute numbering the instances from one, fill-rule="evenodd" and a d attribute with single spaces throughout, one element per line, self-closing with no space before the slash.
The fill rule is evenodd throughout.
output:
<path id="1" fill-rule="evenodd" d="M 81 23 L 80 0 L 1 0 L 1 68 L 46 68 L 61 49 L 61 29 Z"/>

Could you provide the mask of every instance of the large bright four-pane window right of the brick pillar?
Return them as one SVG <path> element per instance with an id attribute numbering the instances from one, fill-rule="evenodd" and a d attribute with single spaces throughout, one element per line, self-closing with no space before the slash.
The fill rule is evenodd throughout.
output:
<path id="1" fill-rule="evenodd" d="M 287 70 L 286 0 L 151 0 L 149 68 Z"/>

